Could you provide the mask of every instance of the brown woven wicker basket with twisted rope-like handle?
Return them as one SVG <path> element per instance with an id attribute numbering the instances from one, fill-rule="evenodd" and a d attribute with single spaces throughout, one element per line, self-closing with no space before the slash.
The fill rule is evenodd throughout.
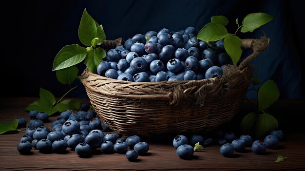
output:
<path id="1" fill-rule="evenodd" d="M 238 112 L 252 79 L 247 63 L 268 44 L 266 37 L 243 39 L 242 46 L 252 48 L 253 53 L 239 66 L 226 65 L 223 76 L 211 79 L 130 82 L 98 76 L 86 69 L 81 81 L 97 115 L 115 132 L 147 137 L 208 132 Z"/>

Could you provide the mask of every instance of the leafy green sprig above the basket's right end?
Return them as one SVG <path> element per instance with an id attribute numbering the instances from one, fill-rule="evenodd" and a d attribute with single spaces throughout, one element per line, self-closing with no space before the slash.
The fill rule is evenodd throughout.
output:
<path id="1" fill-rule="evenodd" d="M 242 40 L 236 36 L 238 30 L 242 33 L 253 32 L 273 19 L 266 13 L 248 14 L 239 25 L 238 19 L 235 20 L 237 29 L 234 34 L 228 33 L 226 25 L 229 20 L 225 16 L 213 16 L 211 22 L 206 24 L 199 31 L 197 38 L 206 42 L 217 41 L 224 38 L 224 46 L 228 55 L 232 58 L 234 65 L 239 61 L 243 50 L 241 49 Z"/>

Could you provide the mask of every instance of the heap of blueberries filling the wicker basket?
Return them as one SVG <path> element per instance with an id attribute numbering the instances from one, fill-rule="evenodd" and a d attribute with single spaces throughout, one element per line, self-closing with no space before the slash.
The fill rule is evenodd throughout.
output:
<path id="1" fill-rule="evenodd" d="M 100 76 L 134 82 L 196 80 L 223 75 L 233 64 L 224 41 L 200 41 L 194 27 L 179 32 L 149 31 L 111 49 L 97 67 Z"/>

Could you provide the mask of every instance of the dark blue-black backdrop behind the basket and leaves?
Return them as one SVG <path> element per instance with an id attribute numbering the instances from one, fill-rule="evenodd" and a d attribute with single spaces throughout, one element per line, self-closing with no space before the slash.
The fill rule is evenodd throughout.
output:
<path id="1" fill-rule="evenodd" d="M 102 24 L 107 39 L 132 38 L 161 28 L 179 31 L 194 26 L 199 31 L 210 17 L 224 15 L 228 30 L 234 33 L 239 22 L 249 13 L 265 12 L 274 19 L 251 34 L 240 38 L 271 39 L 269 49 L 252 61 L 257 77 L 276 81 L 281 98 L 304 98 L 304 3 L 297 0 L 50 0 L 23 2 L 15 9 L 17 18 L 2 14 L 2 34 L 13 33 L 3 55 L 1 73 L 5 81 L 2 96 L 38 97 L 39 87 L 60 97 L 69 90 L 52 72 L 57 52 L 68 44 L 81 44 L 78 25 L 84 8 Z M 19 10 L 19 11 L 18 11 Z M 3 12 L 1 12 L 3 13 Z M 20 20 L 21 19 L 21 20 Z M 18 42 L 18 48 L 11 46 Z M 13 66 L 12 66 L 13 64 Z M 84 64 L 77 65 L 81 71 Z M 14 68 L 17 69 L 14 69 Z M 5 74 L 4 74 L 5 73 Z M 79 86 L 68 97 L 86 97 Z M 247 95 L 255 98 L 254 92 Z"/>

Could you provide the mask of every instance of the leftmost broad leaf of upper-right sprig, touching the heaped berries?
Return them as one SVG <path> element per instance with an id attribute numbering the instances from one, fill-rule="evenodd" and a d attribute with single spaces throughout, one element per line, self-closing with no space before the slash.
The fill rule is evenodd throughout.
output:
<path id="1" fill-rule="evenodd" d="M 199 31 L 197 38 L 206 42 L 217 41 L 228 34 L 226 27 L 220 24 L 208 23 Z"/>

